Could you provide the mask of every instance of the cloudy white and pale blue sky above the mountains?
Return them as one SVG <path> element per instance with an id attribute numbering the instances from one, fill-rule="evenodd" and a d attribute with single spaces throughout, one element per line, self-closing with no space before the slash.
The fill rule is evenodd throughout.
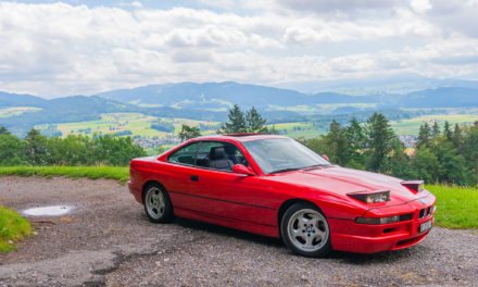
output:
<path id="1" fill-rule="evenodd" d="M 0 90 L 477 80 L 476 27 L 478 0 L 0 1 Z"/>

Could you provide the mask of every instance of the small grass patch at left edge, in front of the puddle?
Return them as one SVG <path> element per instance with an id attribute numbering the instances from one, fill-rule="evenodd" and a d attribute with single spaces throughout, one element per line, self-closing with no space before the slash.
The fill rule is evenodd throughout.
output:
<path id="1" fill-rule="evenodd" d="M 14 242 L 32 234 L 29 222 L 16 212 L 0 207 L 0 252 L 15 249 Z"/>

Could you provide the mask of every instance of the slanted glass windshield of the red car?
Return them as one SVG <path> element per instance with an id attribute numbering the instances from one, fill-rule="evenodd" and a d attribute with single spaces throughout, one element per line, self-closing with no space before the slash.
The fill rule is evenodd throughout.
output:
<path id="1" fill-rule="evenodd" d="M 324 158 L 291 138 L 246 141 L 243 146 L 265 174 L 330 164 Z"/>

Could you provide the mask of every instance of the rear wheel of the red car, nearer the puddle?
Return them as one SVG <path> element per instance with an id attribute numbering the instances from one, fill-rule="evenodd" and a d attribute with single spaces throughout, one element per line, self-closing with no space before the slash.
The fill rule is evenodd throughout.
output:
<path id="1" fill-rule="evenodd" d="M 166 190 L 158 185 L 149 185 L 144 190 L 144 212 L 150 222 L 168 223 L 174 219 L 173 204 Z"/>

